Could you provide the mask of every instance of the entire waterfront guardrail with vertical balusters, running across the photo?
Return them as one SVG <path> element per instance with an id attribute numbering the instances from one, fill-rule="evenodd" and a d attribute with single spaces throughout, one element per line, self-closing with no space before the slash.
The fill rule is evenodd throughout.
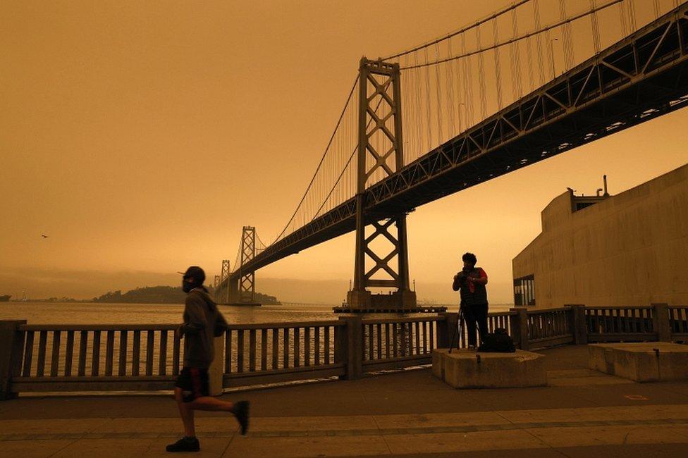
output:
<path id="1" fill-rule="evenodd" d="M 430 364 L 432 351 L 467 346 L 457 314 L 232 324 L 216 339 L 215 386 L 359 378 Z M 489 314 L 517 347 L 587 342 L 688 341 L 688 306 L 557 309 Z M 171 390 L 182 345 L 174 325 L 29 325 L 0 321 L 0 398 L 19 392 Z"/>

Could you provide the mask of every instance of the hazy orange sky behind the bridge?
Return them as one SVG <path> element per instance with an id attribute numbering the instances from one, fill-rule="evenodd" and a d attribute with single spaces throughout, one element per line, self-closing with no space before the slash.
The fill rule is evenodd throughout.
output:
<path id="1" fill-rule="evenodd" d="M 0 294 L 92 297 L 175 283 L 190 264 L 219 273 L 242 225 L 265 242 L 283 227 L 362 55 L 507 3 L 1 2 Z M 683 165 L 687 125 L 678 111 L 417 209 L 419 298 L 450 300 L 470 250 L 491 301 L 511 302 L 511 259 L 541 209 L 567 186 L 594 194 L 604 173 L 615 194 Z M 321 280 L 336 302 L 353 249 L 349 234 L 290 256 L 259 271 L 257 288 L 299 300 L 278 280 Z"/>

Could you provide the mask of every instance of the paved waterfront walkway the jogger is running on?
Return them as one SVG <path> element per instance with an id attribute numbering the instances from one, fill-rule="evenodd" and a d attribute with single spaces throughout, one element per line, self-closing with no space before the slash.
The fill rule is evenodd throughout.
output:
<path id="1" fill-rule="evenodd" d="M 688 383 L 632 383 L 586 369 L 584 347 L 549 349 L 550 386 L 453 390 L 428 369 L 225 395 L 252 402 L 246 437 L 197 413 L 208 457 L 688 456 Z M 0 450 L 20 457 L 168 455 L 180 437 L 163 396 L 0 402 Z"/>

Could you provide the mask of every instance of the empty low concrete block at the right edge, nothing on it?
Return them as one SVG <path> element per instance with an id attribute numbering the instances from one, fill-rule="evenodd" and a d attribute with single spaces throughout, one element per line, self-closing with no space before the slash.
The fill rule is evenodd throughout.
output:
<path id="1" fill-rule="evenodd" d="M 637 382 L 688 380 L 688 345 L 637 342 L 588 345 L 590 369 Z"/>

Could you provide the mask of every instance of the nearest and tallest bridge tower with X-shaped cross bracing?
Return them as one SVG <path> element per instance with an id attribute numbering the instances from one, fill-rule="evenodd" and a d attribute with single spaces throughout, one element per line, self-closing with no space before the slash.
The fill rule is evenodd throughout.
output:
<path id="1" fill-rule="evenodd" d="M 371 178 L 386 178 L 404 166 L 399 64 L 363 57 L 358 84 L 356 259 L 347 302 L 352 309 L 413 308 L 416 294 L 409 287 L 406 213 L 369 213 L 364 202 L 367 185 L 373 184 Z M 371 229 L 369 235 L 366 228 Z M 381 247 L 390 243 L 391 251 Z M 372 294 L 368 287 L 395 291 Z"/>

